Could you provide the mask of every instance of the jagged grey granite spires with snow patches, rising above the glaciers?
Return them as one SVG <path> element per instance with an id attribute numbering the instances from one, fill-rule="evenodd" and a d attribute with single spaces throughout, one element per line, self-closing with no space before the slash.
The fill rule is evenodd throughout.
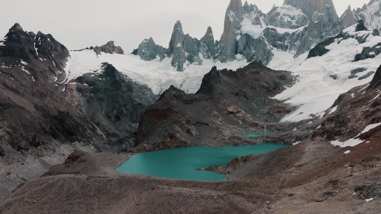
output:
<path id="1" fill-rule="evenodd" d="M 378 28 L 378 7 L 379 0 L 372 0 L 357 12 L 349 7 L 339 18 L 332 0 L 285 0 L 282 6 L 274 5 L 267 14 L 247 1 L 242 4 L 241 0 L 231 0 L 219 41 L 214 41 L 211 28 L 200 40 L 184 35 L 178 21 L 168 48 L 157 46 L 150 38 L 145 39 L 133 54 L 144 61 L 170 57 L 171 65 L 178 71 L 186 70 L 190 64 L 200 65 L 204 59 L 262 61 L 267 65 L 274 56 L 274 48 L 297 57 L 356 24 L 360 16 L 370 29 Z"/>

